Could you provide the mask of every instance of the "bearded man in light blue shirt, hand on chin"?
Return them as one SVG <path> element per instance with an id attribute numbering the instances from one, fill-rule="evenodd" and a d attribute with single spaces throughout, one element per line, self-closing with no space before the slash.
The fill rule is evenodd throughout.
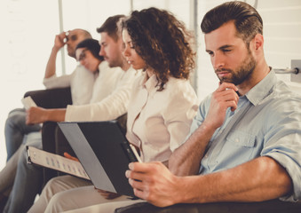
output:
<path id="1" fill-rule="evenodd" d="M 171 154 L 176 170 L 160 162 L 129 165 L 134 193 L 160 207 L 300 200 L 301 97 L 266 64 L 260 15 L 249 4 L 227 2 L 207 12 L 201 28 L 218 89 Z"/>

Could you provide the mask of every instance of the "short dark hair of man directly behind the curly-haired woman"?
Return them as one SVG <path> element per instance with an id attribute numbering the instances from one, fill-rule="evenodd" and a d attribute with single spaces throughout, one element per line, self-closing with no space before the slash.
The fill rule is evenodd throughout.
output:
<path id="1" fill-rule="evenodd" d="M 107 18 L 107 20 L 101 25 L 100 28 L 97 28 L 98 33 L 107 33 L 108 36 L 112 37 L 116 42 L 120 35 L 120 28 L 118 22 L 120 19 L 124 18 L 124 15 L 115 15 Z"/>

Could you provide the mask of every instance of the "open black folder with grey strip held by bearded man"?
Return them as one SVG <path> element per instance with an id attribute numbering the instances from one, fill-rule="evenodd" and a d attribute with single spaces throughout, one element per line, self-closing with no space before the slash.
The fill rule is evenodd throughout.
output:
<path id="1" fill-rule="evenodd" d="M 117 121 L 58 124 L 96 188 L 135 197 L 125 171 L 139 156 Z"/>

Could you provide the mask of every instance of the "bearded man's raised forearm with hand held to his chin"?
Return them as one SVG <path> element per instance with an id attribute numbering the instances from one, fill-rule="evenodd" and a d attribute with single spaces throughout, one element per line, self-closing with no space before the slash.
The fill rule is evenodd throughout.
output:
<path id="1" fill-rule="evenodd" d="M 233 83 L 222 83 L 212 93 L 210 109 L 201 126 L 187 141 L 170 155 L 169 169 L 178 176 L 195 175 L 200 169 L 200 162 L 206 146 L 215 130 L 225 121 L 228 107 L 234 111 L 237 107 L 237 88 Z"/>

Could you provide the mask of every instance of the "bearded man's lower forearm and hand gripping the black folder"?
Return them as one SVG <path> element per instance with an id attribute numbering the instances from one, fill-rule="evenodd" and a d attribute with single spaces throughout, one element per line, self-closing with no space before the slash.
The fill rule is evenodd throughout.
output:
<path id="1" fill-rule="evenodd" d="M 292 190 L 288 173 L 270 157 L 204 176 L 177 177 L 160 162 L 135 162 L 130 169 L 126 176 L 135 195 L 160 207 L 175 203 L 266 201 Z"/>

